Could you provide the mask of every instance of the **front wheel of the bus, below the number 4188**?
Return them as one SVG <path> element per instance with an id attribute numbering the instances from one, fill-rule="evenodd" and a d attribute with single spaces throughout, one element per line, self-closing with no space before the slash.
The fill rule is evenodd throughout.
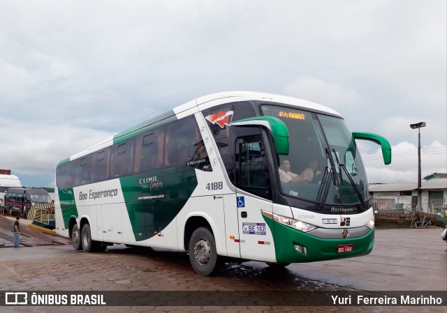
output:
<path id="1" fill-rule="evenodd" d="M 189 241 L 189 261 L 200 275 L 219 273 L 223 267 L 221 257 L 217 255 L 216 241 L 210 229 L 199 227 Z"/>

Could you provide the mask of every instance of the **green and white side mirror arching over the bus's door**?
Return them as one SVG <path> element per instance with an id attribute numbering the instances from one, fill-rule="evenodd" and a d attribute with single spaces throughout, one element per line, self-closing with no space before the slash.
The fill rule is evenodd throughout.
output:
<path id="1" fill-rule="evenodd" d="M 286 124 L 272 116 L 255 116 L 248 119 L 234 121 L 231 126 L 262 126 L 270 130 L 274 140 L 274 146 L 279 155 L 288 155 L 288 130 Z"/>

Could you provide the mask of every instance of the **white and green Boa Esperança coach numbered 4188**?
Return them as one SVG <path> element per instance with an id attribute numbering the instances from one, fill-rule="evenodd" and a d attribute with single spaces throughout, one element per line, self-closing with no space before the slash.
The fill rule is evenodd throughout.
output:
<path id="1" fill-rule="evenodd" d="M 86 252 L 186 251 L 201 275 L 232 259 L 369 254 L 374 213 L 355 139 L 380 144 L 390 163 L 386 139 L 351 132 L 323 105 L 253 92 L 197 98 L 59 162 L 56 231 Z"/>

